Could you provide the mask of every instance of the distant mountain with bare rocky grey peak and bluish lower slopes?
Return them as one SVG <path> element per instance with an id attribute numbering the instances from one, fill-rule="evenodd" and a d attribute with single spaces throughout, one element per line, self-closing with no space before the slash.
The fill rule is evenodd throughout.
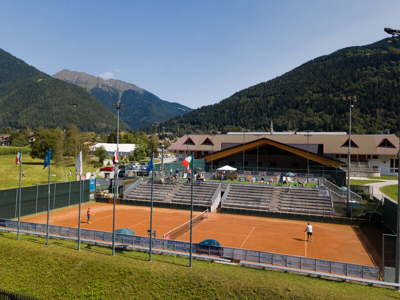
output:
<path id="1" fill-rule="evenodd" d="M 67 69 L 52 76 L 83 87 L 111 111 L 114 111 L 112 104 L 124 104 L 124 111 L 120 111 L 119 117 L 132 129 L 165 121 L 192 110 L 179 103 L 161 100 L 151 92 L 121 80 L 104 80 L 101 77 Z"/>

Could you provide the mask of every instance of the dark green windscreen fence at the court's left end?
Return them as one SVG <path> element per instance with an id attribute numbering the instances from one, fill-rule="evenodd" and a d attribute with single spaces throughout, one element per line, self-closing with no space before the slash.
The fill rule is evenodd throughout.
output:
<path id="1" fill-rule="evenodd" d="M 81 181 L 82 202 L 89 200 L 89 180 Z M 0 190 L 0 218 L 18 217 L 18 188 Z M 21 216 L 47 211 L 48 184 L 21 187 Z M 50 210 L 79 203 L 79 181 L 50 183 Z"/>

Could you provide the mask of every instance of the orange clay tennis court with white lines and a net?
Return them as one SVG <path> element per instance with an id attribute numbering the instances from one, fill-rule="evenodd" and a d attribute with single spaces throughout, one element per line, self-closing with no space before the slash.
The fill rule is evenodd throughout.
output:
<path id="1" fill-rule="evenodd" d="M 86 211 L 94 215 L 86 223 Z M 112 231 L 113 205 L 92 202 L 81 206 L 81 228 Z M 200 211 L 193 212 L 193 216 Z M 50 224 L 78 227 L 78 206 L 50 212 Z M 21 218 L 46 223 L 47 214 Z M 189 210 L 153 208 L 153 230 L 156 237 L 190 220 Z M 313 239 L 306 242 L 306 221 L 210 212 L 208 218 L 193 227 L 193 242 L 213 238 L 222 246 L 336 260 L 380 266 L 381 231 L 349 225 L 311 222 Z M 130 228 L 147 236 L 150 229 L 150 207 L 115 205 L 115 229 Z M 189 231 L 176 239 L 189 241 Z"/>

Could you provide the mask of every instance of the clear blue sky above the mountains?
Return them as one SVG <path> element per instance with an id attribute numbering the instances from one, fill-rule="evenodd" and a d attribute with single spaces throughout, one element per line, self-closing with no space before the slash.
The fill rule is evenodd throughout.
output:
<path id="1" fill-rule="evenodd" d="M 400 29 L 399 0 L 0 3 L 0 48 L 41 71 L 134 83 L 192 108 Z"/>

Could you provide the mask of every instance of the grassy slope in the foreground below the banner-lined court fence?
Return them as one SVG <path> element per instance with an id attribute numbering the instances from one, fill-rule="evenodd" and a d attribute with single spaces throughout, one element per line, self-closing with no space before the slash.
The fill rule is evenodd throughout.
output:
<path id="1" fill-rule="evenodd" d="M 0 288 L 46 299 L 398 299 L 397 290 L 0 232 Z"/>

